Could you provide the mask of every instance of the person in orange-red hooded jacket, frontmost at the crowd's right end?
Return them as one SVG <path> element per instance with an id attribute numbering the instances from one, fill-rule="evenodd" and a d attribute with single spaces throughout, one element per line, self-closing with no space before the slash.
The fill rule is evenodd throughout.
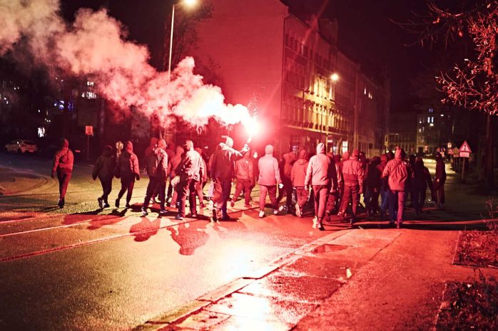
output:
<path id="1" fill-rule="evenodd" d="M 395 224 L 400 228 L 403 224 L 405 212 L 406 190 L 412 177 L 410 162 L 404 158 L 402 148 L 396 149 L 395 158 L 387 162 L 382 172 L 382 177 L 387 177 L 389 184 L 389 219 L 390 225 Z M 397 211 L 395 210 L 397 203 Z"/>

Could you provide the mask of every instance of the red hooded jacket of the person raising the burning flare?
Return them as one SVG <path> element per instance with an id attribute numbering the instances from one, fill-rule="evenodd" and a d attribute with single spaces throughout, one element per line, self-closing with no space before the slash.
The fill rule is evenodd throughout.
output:
<path id="1" fill-rule="evenodd" d="M 248 152 L 248 147 L 244 147 L 244 149 L 239 152 L 226 145 L 224 142 L 220 142 L 218 148 L 214 152 L 213 160 L 211 162 L 211 177 L 221 180 L 233 179 L 235 161 L 240 159 L 240 157 L 243 157 L 245 152 Z"/>

